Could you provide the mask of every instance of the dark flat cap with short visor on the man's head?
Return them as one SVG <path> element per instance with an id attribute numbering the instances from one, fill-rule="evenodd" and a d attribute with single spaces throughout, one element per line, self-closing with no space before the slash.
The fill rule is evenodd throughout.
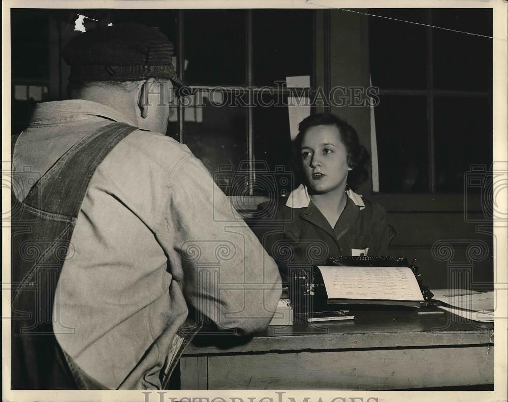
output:
<path id="1" fill-rule="evenodd" d="M 63 48 L 69 81 L 137 81 L 166 78 L 185 85 L 171 60 L 175 47 L 162 32 L 125 23 L 87 30 Z"/>

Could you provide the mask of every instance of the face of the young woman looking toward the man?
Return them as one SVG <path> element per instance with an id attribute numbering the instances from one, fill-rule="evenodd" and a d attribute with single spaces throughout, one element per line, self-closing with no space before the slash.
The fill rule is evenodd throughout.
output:
<path id="1" fill-rule="evenodd" d="M 347 151 L 335 126 L 315 126 L 303 136 L 301 158 L 309 190 L 324 194 L 345 189 Z"/>

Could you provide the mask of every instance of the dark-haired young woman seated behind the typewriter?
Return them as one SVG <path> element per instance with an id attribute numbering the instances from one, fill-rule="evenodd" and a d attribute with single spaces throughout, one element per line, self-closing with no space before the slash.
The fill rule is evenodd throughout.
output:
<path id="1" fill-rule="evenodd" d="M 367 178 L 369 159 L 355 129 L 333 114 L 311 115 L 299 124 L 295 151 L 302 184 L 287 198 L 261 203 L 263 218 L 252 228 L 283 282 L 289 269 L 330 257 L 387 255 L 394 231 L 386 211 L 352 190 Z"/>

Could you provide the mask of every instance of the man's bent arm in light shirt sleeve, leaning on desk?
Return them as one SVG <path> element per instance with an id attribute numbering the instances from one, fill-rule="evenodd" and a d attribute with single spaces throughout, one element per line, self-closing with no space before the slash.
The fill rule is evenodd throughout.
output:
<path id="1" fill-rule="evenodd" d="M 193 156 L 172 173 L 160 219 L 168 270 L 187 304 L 220 330 L 264 330 L 280 298 L 277 266 Z"/>

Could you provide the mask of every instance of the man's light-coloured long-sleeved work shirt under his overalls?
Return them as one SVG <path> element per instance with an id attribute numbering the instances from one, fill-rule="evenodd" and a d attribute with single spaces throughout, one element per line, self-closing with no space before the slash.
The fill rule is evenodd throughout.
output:
<path id="1" fill-rule="evenodd" d="M 134 126 L 95 102 L 39 104 L 14 150 L 16 197 L 112 121 Z M 54 300 L 56 338 L 83 375 L 106 388 L 160 388 L 188 307 L 218 330 L 266 328 L 280 276 L 236 217 L 185 145 L 142 130 L 116 145 L 91 178 Z"/>

